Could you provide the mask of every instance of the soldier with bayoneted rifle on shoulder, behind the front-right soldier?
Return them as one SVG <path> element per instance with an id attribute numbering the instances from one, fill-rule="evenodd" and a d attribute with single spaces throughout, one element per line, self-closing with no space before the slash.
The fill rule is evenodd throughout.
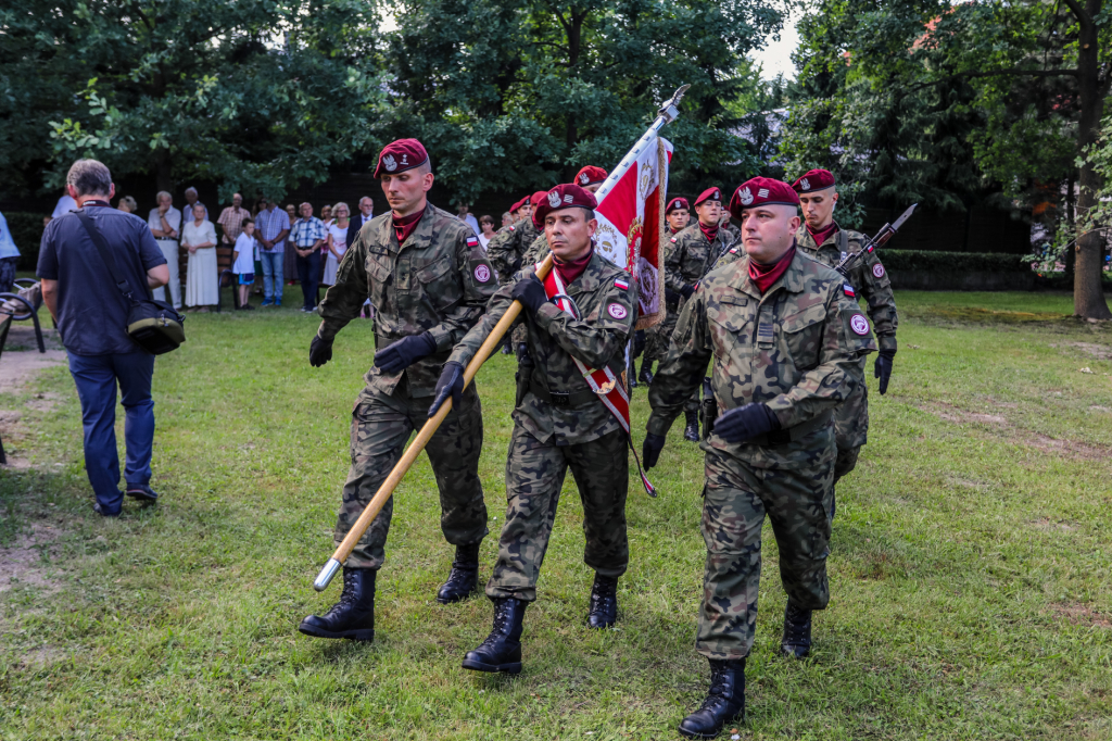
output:
<path id="1" fill-rule="evenodd" d="M 860 231 L 848 231 L 834 220 L 834 205 L 837 188 L 830 170 L 811 170 L 792 187 L 800 194 L 803 220 L 806 228 L 800 229 L 795 244 L 805 254 L 825 265 L 837 265 L 847 253 L 861 251 L 868 237 Z M 892 281 L 876 253 L 865 253 L 850 269 L 850 285 L 857 298 L 864 298 L 868 316 L 873 320 L 876 343 L 874 375 L 880 378 L 880 393 L 888 389 L 892 375 L 892 359 L 896 354 L 896 300 L 892 295 Z M 834 483 L 853 471 L 857 465 L 861 446 L 868 436 L 868 391 L 865 386 L 865 358 L 856 368 L 861 383 L 853 395 L 834 413 L 834 428 L 837 433 L 837 463 L 834 464 Z M 831 497 L 831 516 L 834 498 Z"/>

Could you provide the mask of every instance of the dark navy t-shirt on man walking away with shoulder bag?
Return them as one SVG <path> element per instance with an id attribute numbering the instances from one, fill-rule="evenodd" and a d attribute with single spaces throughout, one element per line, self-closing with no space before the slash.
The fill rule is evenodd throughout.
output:
<path id="1" fill-rule="evenodd" d="M 115 208 L 86 206 L 85 210 L 105 236 L 132 295 L 148 298 L 147 270 L 166 265 L 150 227 L 138 216 Z M 37 271 L 40 278 L 58 281 L 58 332 L 70 353 L 108 355 L 142 349 L 128 337 L 130 304 L 116 287 L 77 214 L 64 214 L 47 225 Z"/>

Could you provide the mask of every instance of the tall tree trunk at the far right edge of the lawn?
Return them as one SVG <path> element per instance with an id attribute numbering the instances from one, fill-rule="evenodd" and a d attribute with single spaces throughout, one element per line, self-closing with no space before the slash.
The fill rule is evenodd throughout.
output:
<path id="1" fill-rule="evenodd" d="M 1079 18 L 1078 70 L 1081 92 L 1081 118 L 1078 121 L 1078 152 L 1083 158 L 1085 150 L 1098 138 L 1104 101 L 1100 95 L 1100 58 L 1098 27 L 1094 18 L 1101 12 L 1103 0 L 1085 3 L 1088 18 Z M 1078 210 L 1088 214 L 1096 206 L 1100 176 L 1092 162 L 1084 162 L 1078 178 Z M 1073 310 L 1086 319 L 1112 319 L 1101 285 L 1104 269 L 1104 239 L 1099 231 L 1089 231 L 1078 239 L 1073 276 Z"/>

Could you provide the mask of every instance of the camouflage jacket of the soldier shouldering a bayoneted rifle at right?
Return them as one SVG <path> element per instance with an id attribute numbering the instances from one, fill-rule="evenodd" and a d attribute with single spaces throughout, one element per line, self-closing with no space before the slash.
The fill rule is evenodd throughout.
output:
<path id="1" fill-rule="evenodd" d="M 860 231 L 847 231 L 841 227 L 826 238 L 822 245 L 815 245 L 815 238 L 801 226 L 795 235 L 796 246 L 820 263 L 831 267 L 838 264 L 842 253 L 855 253 L 868 241 L 868 237 Z M 857 292 L 858 298 L 864 298 L 868 306 L 868 317 L 873 320 L 873 330 L 881 349 L 896 348 L 896 299 L 892 295 L 892 281 L 885 271 L 876 253 L 863 255 L 850 269 L 850 284 Z"/>

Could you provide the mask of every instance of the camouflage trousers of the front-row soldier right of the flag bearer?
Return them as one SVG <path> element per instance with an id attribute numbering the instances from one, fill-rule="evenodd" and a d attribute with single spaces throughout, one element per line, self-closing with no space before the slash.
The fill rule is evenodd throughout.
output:
<path id="1" fill-rule="evenodd" d="M 793 471 L 755 468 L 722 451 L 707 449 L 706 567 L 695 643 L 699 653 L 742 659 L 753 648 L 761 527 L 766 514 L 780 546 L 780 577 L 787 596 L 810 610 L 826 606 L 833 473 L 833 462 Z"/>

